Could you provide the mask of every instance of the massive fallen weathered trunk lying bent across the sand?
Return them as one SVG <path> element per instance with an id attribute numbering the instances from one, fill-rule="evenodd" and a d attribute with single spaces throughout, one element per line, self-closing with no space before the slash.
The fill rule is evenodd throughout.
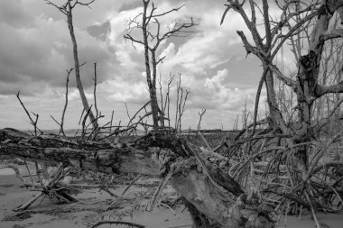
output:
<path id="1" fill-rule="evenodd" d="M 169 173 L 172 187 L 199 214 L 219 227 L 274 227 L 260 199 L 249 200 L 250 195 L 246 196 L 227 172 L 209 159 L 204 160 L 211 153 L 204 154 L 204 150 L 162 132 L 149 133 L 133 143 L 115 145 L 0 130 L 0 155 L 40 160 L 49 165 L 61 162 L 64 166 L 108 174 L 131 172 L 163 178 Z M 218 156 L 213 153 L 213 157 Z"/>

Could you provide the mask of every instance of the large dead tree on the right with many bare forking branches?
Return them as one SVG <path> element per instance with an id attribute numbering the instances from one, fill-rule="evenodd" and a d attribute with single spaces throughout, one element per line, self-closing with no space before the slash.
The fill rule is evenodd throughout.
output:
<path id="1" fill-rule="evenodd" d="M 259 58 L 264 69 L 257 90 L 255 122 L 260 92 L 263 85 L 265 85 L 269 119 L 271 120 L 269 132 L 281 132 L 284 135 L 283 139 L 286 141 L 287 147 L 292 148 L 289 154 L 284 154 L 283 151 L 280 151 L 280 156 L 283 156 L 283 158 L 290 158 L 290 154 L 293 155 L 291 160 L 294 162 L 294 169 L 292 170 L 295 171 L 292 172 L 291 177 L 292 186 L 294 186 L 292 193 L 300 195 L 304 198 L 305 202 L 312 205 L 316 199 L 311 190 L 311 181 L 313 181 L 311 180 L 312 171 L 318 165 L 318 161 L 323 155 L 322 150 L 320 152 L 317 150 L 315 154 L 311 154 L 311 143 L 314 141 L 313 131 L 316 128 L 313 123 L 312 109 L 314 102 L 321 96 L 330 93 L 343 93 L 342 82 L 329 86 L 321 85 L 319 81 L 320 61 L 323 58 L 322 53 L 325 43 L 332 39 L 342 41 L 342 29 L 331 30 L 329 29 L 329 23 L 334 14 L 340 14 L 340 21 L 342 22 L 343 1 L 321 0 L 311 1 L 311 3 L 308 1 L 283 1 L 282 3 L 275 1 L 275 3 L 281 9 L 280 18 L 277 21 L 273 21 L 269 14 L 270 2 L 267 0 L 262 1 L 262 8 L 254 0 L 241 2 L 238 0 L 227 0 L 227 9 L 223 14 L 221 23 L 223 23 L 227 12 L 231 9 L 240 14 L 246 23 L 250 33 L 249 36 L 253 38 L 253 42 L 248 41 L 245 32 L 237 31 L 237 34 L 241 38 L 247 54 L 252 53 Z M 249 14 L 251 14 L 251 17 L 246 13 L 246 5 L 248 5 L 247 8 L 250 8 Z M 264 32 L 258 29 L 258 12 L 263 17 Z M 285 41 L 289 41 L 291 37 L 296 39 L 300 32 L 303 31 L 303 27 L 309 25 L 309 23 L 314 25 L 308 40 L 307 54 L 298 56 L 296 77 L 289 78 L 274 64 L 274 58 L 283 47 Z M 340 66 L 340 69 L 342 69 L 342 66 Z M 297 104 L 293 108 L 296 109 L 297 118 L 293 123 L 286 123 L 283 113 L 280 111 L 275 96 L 274 77 L 292 88 L 296 96 Z M 340 135 L 338 134 L 335 137 L 332 137 L 332 139 L 337 140 L 340 138 Z M 287 151 L 289 150 L 287 149 Z M 312 160 L 313 156 L 316 159 Z M 315 215 L 313 214 L 313 216 Z"/>

